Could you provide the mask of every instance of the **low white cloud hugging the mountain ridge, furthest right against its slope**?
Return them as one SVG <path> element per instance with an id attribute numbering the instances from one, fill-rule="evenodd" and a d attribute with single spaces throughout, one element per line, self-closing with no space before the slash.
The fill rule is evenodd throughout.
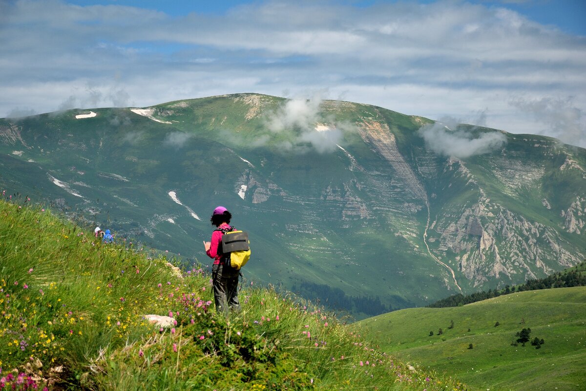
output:
<path id="1" fill-rule="evenodd" d="M 481 132 L 475 137 L 470 130 L 458 129 L 456 121 L 450 118 L 425 125 L 418 134 L 425 140 L 425 147 L 437 154 L 462 159 L 496 151 L 507 140 L 504 134 L 495 131 Z"/>

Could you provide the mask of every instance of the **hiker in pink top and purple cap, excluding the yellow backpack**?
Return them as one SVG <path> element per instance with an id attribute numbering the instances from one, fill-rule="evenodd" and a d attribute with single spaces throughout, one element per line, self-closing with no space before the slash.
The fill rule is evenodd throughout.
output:
<path id="1" fill-rule="evenodd" d="M 212 281 L 214 289 L 214 301 L 216 311 L 227 313 L 227 311 L 240 311 L 238 301 L 238 276 L 239 271 L 227 264 L 222 253 L 222 235 L 233 228 L 230 226 L 232 215 L 223 206 L 218 206 L 212 213 L 210 222 L 217 229 L 212 233 L 211 242 L 203 242 L 206 254 L 213 258 Z"/>

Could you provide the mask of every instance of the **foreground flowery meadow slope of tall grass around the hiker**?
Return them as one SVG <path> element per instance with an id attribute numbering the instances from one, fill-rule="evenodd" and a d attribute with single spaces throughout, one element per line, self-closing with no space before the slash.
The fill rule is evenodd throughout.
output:
<path id="1" fill-rule="evenodd" d="M 102 244 L 29 205 L 0 201 L 0 389 L 26 389 L 19 373 L 49 389 L 465 389 L 246 280 L 242 310 L 216 314 L 206 267 L 177 276 L 163 256 Z M 155 326 L 147 314 L 175 324 Z"/>

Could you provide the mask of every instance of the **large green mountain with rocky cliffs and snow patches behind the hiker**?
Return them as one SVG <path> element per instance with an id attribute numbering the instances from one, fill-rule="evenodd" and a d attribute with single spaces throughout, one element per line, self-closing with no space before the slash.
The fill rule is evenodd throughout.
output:
<path id="1" fill-rule="evenodd" d="M 259 94 L 5 118 L 0 186 L 186 262 L 207 263 L 207 216 L 224 205 L 250 234 L 248 277 L 323 304 L 329 289 L 425 305 L 584 259 L 584 149 L 499 131 L 500 149 L 445 157 L 418 132 L 431 124 Z"/>

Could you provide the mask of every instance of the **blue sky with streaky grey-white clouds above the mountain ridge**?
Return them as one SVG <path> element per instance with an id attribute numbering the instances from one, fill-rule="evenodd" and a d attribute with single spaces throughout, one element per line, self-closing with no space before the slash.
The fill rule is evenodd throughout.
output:
<path id="1" fill-rule="evenodd" d="M 0 0 L 0 117 L 318 94 L 586 147 L 582 0 L 212 3 Z"/>

